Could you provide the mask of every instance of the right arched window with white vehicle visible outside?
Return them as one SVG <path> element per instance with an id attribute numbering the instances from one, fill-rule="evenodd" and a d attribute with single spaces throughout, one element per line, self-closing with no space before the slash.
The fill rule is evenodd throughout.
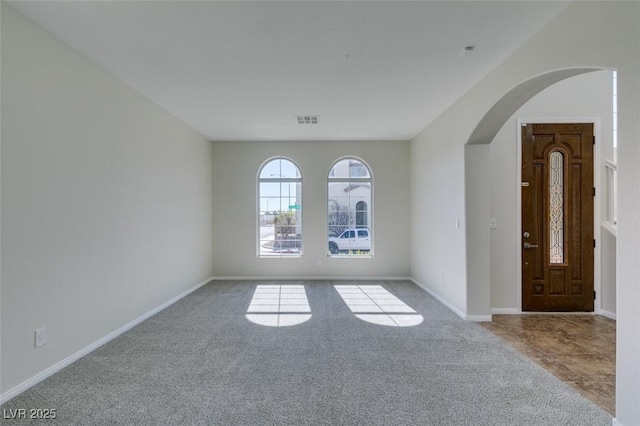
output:
<path id="1" fill-rule="evenodd" d="M 335 162 L 327 177 L 328 250 L 332 256 L 373 253 L 372 185 L 369 166 L 358 158 Z"/>

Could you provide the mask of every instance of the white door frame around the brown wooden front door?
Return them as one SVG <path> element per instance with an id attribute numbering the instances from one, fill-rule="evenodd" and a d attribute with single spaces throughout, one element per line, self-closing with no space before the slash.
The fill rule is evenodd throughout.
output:
<path id="1" fill-rule="evenodd" d="M 602 129 L 599 117 L 519 117 L 516 120 L 516 247 L 518 247 L 518 253 L 522 250 L 522 126 L 524 124 L 533 123 L 591 123 L 593 124 L 593 135 L 596 138 L 596 144 L 593 149 L 593 186 L 596 188 L 596 196 L 593 200 L 593 238 L 596 240 L 596 247 L 593 250 L 593 289 L 596 292 L 596 299 L 593 301 L 593 312 L 596 314 L 602 311 L 602 292 L 601 292 L 601 232 L 599 223 L 602 223 Z M 518 299 L 518 312 L 530 313 L 522 311 L 522 256 L 518 255 L 516 258 L 516 297 Z M 557 312 L 556 312 L 557 313 Z"/>

